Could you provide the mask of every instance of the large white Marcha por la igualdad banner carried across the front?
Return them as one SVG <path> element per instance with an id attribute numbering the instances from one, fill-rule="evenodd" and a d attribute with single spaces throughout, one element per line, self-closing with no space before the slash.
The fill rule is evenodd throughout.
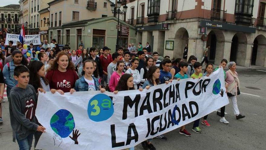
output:
<path id="1" fill-rule="evenodd" d="M 174 80 L 142 92 L 39 93 L 36 116 L 46 132 L 37 149 L 134 147 L 228 103 L 222 68 L 209 77 Z"/>

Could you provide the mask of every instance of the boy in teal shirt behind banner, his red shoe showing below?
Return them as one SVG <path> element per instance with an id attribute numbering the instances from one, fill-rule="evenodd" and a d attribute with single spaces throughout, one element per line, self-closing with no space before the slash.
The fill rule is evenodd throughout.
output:
<path id="1" fill-rule="evenodd" d="M 180 72 L 178 72 L 175 76 L 174 76 L 174 80 L 180 80 L 180 79 L 186 79 L 188 78 L 188 76 L 186 75 L 187 72 L 187 63 L 186 62 L 179 62 L 178 63 L 178 67 L 180 69 Z M 191 136 L 191 134 L 186 130 L 185 126 L 183 125 L 180 128 L 179 134 L 182 135 L 186 135 L 186 136 Z"/>

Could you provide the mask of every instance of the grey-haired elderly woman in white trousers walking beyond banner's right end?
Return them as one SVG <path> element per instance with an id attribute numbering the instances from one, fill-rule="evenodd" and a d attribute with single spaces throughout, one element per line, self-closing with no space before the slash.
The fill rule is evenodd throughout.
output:
<path id="1" fill-rule="evenodd" d="M 239 79 L 236 70 L 236 63 L 235 62 L 229 62 L 228 63 L 228 68 L 229 70 L 226 72 L 226 79 L 225 79 L 225 84 L 228 86 L 227 87 L 227 96 L 229 99 L 231 99 L 232 104 L 233 104 L 233 110 L 234 114 L 236 115 L 236 119 L 241 119 L 244 118 L 245 115 L 241 115 L 238 106 L 237 106 L 237 95 L 240 94 L 239 91 Z"/>

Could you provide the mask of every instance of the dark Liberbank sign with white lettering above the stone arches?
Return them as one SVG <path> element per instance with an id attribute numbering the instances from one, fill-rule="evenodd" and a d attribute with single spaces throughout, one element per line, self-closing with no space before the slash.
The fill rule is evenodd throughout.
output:
<path id="1" fill-rule="evenodd" d="M 208 28 L 217 28 L 217 29 L 224 29 L 224 30 L 231 30 L 231 31 L 238 31 L 238 32 L 247 32 L 247 33 L 256 33 L 256 28 L 247 27 L 242 25 L 232 25 L 223 22 L 214 22 L 214 21 L 200 21 L 201 27 L 208 27 Z"/>

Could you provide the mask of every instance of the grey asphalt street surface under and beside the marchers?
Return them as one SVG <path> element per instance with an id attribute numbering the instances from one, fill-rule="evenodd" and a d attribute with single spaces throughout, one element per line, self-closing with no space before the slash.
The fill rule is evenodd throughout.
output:
<path id="1" fill-rule="evenodd" d="M 261 70 L 261 71 L 258 71 Z M 237 70 L 242 92 L 238 96 L 238 107 L 246 118 L 236 120 L 233 114 L 232 104 L 226 106 L 225 118 L 228 125 L 219 122 L 216 112 L 208 116 L 211 127 L 200 124 L 202 134 L 191 131 L 192 123 L 186 125 L 191 137 L 180 135 L 179 129 L 168 132 L 167 141 L 154 139 L 154 146 L 159 149 L 206 149 L 206 150 L 263 150 L 266 147 L 266 68 Z M 246 93 L 246 94 L 244 94 Z M 251 95 L 249 95 L 251 94 Z M 9 121 L 8 103 L 3 103 L 4 123 L 0 125 L 0 150 L 18 149 L 18 145 L 12 142 L 12 131 Z M 33 148 L 32 148 L 33 149 Z M 137 150 L 143 149 L 137 145 Z"/>

